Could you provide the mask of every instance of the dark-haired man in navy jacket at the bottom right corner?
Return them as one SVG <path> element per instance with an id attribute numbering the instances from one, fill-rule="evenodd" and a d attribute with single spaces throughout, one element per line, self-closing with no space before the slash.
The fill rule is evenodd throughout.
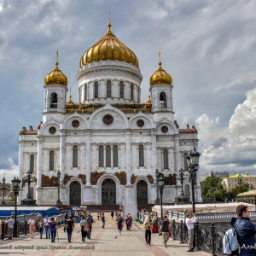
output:
<path id="1" fill-rule="evenodd" d="M 237 218 L 232 218 L 231 225 L 237 225 L 237 239 L 241 246 L 240 256 L 256 256 L 256 225 L 250 222 L 250 212 L 246 205 L 236 207 Z"/>

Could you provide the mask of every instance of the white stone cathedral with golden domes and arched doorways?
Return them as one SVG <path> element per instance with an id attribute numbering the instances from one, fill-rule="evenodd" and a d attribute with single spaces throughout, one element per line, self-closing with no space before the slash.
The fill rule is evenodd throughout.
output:
<path id="1" fill-rule="evenodd" d="M 174 119 L 172 77 L 159 63 L 149 80 L 148 102 L 141 103 L 143 76 L 137 55 L 111 32 L 84 52 L 77 81 L 79 102 L 68 79 L 55 69 L 44 80 L 44 113 L 38 131 L 20 131 L 19 177 L 31 171 L 38 205 L 55 205 L 61 172 L 63 205 L 154 204 L 156 168 L 165 176 L 164 203 L 181 195 L 178 171 L 198 146 L 195 126 L 180 129 Z M 191 195 L 184 181 L 185 195 Z M 22 183 L 19 201 L 26 198 Z M 199 176 L 195 201 L 201 201 Z"/>

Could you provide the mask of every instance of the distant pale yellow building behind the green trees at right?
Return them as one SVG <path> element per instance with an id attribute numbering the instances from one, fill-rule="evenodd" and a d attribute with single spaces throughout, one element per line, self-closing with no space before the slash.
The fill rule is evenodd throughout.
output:
<path id="1" fill-rule="evenodd" d="M 240 184 L 247 183 L 249 184 L 249 188 L 256 188 L 256 177 L 251 176 L 246 172 L 245 174 L 234 174 L 226 177 L 222 181 L 222 185 L 226 191 L 230 191 L 230 189 L 234 189 L 236 186 Z"/>

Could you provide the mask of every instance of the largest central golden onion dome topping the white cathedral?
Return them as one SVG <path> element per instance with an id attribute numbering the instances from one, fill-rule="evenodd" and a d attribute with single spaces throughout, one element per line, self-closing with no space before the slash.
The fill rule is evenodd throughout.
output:
<path id="1" fill-rule="evenodd" d="M 111 32 L 111 24 L 108 23 L 108 32 L 90 49 L 84 52 L 80 60 L 80 67 L 93 61 L 125 61 L 139 67 L 137 55 L 125 44 L 121 43 Z"/>

